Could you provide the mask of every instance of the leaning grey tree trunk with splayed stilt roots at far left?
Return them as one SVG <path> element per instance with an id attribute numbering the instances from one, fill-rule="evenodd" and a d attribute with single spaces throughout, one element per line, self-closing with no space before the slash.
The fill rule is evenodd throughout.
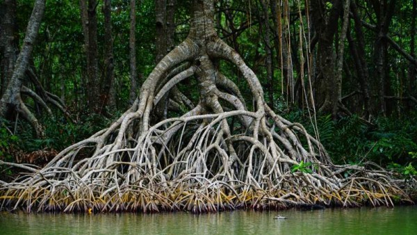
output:
<path id="1" fill-rule="evenodd" d="M 31 54 L 33 51 L 33 45 L 35 43 L 35 38 L 38 36 L 44 8 L 45 1 L 35 1 L 31 17 L 28 20 L 28 26 L 26 28 L 26 34 L 22 49 L 18 55 L 15 54 L 17 55 L 16 61 L 9 60 L 9 63 L 15 64 L 15 67 L 13 69 L 12 76 L 8 81 L 8 86 L 3 92 L 0 100 L 0 116 L 6 117 L 8 120 L 12 120 L 14 117 L 17 117 L 17 115 L 20 115 L 20 117 L 23 117 L 24 119 L 28 120 L 28 122 L 30 122 L 38 138 L 44 137 L 44 127 L 42 127 L 42 124 L 38 122 L 38 119 L 36 119 L 35 115 L 33 115 L 33 113 L 24 104 L 22 95 L 26 95 L 33 100 L 37 113 L 40 113 L 42 108 L 43 110 L 47 111 L 47 115 L 49 115 L 49 117 L 54 119 L 54 114 L 52 113 L 51 108 L 48 106 L 48 104 L 52 104 L 53 106 L 59 108 L 64 115 L 72 120 L 70 113 L 67 112 L 67 108 L 65 107 L 63 101 L 56 95 L 53 95 L 44 90 L 40 80 L 30 65 L 30 63 L 33 63 L 33 61 L 31 62 Z M 13 44 L 16 44 L 13 45 L 13 47 L 16 48 L 16 38 L 9 38 L 9 40 L 13 40 Z M 12 49 L 12 51 L 16 53 L 17 49 Z M 11 51 L 9 52 L 12 53 Z M 13 57 L 11 54 L 10 56 Z M 31 90 L 31 88 L 25 86 L 26 83 L 31 84 L 34 89 Z"/>

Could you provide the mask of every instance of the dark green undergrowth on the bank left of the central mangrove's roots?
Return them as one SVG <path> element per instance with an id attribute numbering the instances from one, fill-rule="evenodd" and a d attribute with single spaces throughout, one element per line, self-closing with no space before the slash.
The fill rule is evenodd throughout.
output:
<path id="1" fill-rule="evenodd" d="M 117 115 L 119 113 L 114 116 Z M 33 129 L 25 120 L 8 122 L 0 119 L 0 160 L 19 163 L 18 156 L 22 157 L 24 154 L 32 154 L 33 158 L 33 154 L 37 154 L 37 152 L 39 154 L 47 151 L 60 152 L 65 147 L 104 129 L 113 120 L 101 115 L 90 114 L 81 116 L 79 121 L 75 123 L 67 122 L 65 119 L 54 120 L 50 117 L 41 117 L 40 121 L 44 125 L 45 138 L 35 138 Z M 0 165 L 1 175 L 13 175 L 13 168 L 1 167 Z"/>

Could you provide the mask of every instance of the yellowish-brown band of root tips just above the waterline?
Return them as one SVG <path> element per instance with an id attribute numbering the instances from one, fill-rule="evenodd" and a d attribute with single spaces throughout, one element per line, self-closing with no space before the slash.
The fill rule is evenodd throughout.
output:
<path id="1" fill-rule="evenodd" d="M 356 183 L 359 184 L 359 183 Z M 392 199 L 398 196 L 388 193 L 385 188 L 371 190 L 351 184 L 348 190 L 311 193 L 308 188 L 275 189 L 265 191 L 249 190 L 231 193 L 229 187 L 206 188 L 198 185 L 175 184 L 172 188 L 148 188 L 130 186 L 108 191 L 103 194 L 85 188 L 26 188 L 10 189 L 0 197 L 2 206 L 23 208 L 26 211 L 63 211 L 63 212 L 159 212 L 190 211 L 205 213 L 234 209 L 286 209 L 288 207 L 321 206 L 393 206 Z M 360 184 L 359 184 L 360 185 Z M 393 192 L 398 193 L 398 192 Z M 16 201 L 19 201 L 19 204 Z M 15 206 L 13 207 L 13 204 Z M 17 206 L 19 205 L 19 206 Z"/>

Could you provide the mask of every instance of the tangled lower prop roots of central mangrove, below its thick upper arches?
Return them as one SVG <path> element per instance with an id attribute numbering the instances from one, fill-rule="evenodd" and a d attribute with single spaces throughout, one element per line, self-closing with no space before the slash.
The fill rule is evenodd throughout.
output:
<path id="1" fill-rule="evenodd" d="M 1 182 L 1 206 L 26 211 L 203 213 L 309 205 L 393 206 L 409 200 L 389 172 L 321 163 L 315 154 L 318 146 L 302 140 L 311 136 L 295 124 L 277 124 L 278 115 L 275 128 L 270 126 L 275 131 L 272 139 L 263 138 L 270 129 L 262 128 L 258 138 L 245 134 L 247 129 L 223 138 L 222 122 L 237 115 L 258 117 L 249 111 L 177 117 L 150 127 L 134 140 L 124 135 L 119 141 L 122 122 L 134 122 L 124 119 L 111 127 L 113 132 L 101 131 L 73 145 L 46 168 L 31 168 L 31 175 Z M 166 133 L 172 136 L 167 138 Z M 297 136 L 297 142 L 279 142 L 291 135 Z M 113 142 L 100 142 L 104 140 Z M 302 151 L 300 141 L 311 149 Z M 101 148 L 90 158 L 76 159 L 81 149 L 97 146 Z M 230 147 L 236 159 L 231 159 Z M 300 168 L 301 161 L 310 164 Z"/>

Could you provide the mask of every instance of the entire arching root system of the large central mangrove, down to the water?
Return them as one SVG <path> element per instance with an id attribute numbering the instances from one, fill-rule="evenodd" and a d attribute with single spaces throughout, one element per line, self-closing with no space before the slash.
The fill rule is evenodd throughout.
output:
<path id="1" fill-rule="evenodd" d="M 209 16 L 210 8 L 195 15 Z M 24 166 L 33 173 L 1 182 L 3 206 L 203 212 L 244 206 L 391 206 L 393 198 L 408 200 L 384 170 L 332 165 L 301 124 L 263 102 L 254 72 L 213 34 L 210 17 L 204 19 L 206 30 L 194 30 L 202 22 L 192 22 L 188 38 L 156 65 L 139 99 L 111 127 L 67 147 L 45 168 Z M 252 92 L 252 111 L 238 86 L 213 65 L 218 59 L 238 67 Z M 195 106 L 177 88 L 190 77 L 199 84 Z M 165 107 L 192 108 L 152 124 L 154 106 L 163 100 Z M 88 152 L 90 157 L 80 159 Z"/>

